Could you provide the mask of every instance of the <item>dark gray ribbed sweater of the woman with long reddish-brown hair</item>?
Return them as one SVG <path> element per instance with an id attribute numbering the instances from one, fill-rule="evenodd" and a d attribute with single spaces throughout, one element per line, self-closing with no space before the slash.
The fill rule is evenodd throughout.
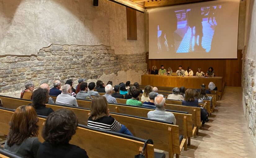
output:
<path id="1" fill-rule="evenodd" d="M 36 158 L 40 144 L 41 143 L 39 142 L 38 138 L 29 137 L 25 139 L 20 145 L 14 144 L 11 147 L 9 147 L 7 142 L 5 142 L 4 150 L 20 157 Z"/>

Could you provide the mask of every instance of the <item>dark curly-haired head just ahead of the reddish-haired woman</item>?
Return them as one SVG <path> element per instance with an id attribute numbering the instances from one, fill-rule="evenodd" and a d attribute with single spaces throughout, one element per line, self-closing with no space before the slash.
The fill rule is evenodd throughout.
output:
<path id="1" fill-rule="evenodd" d="M 34 106 L 35 109 L 37 109 L 39 104 L 44 105 L 48 103 L 49 97 L 50 95 L 47 89 L 38 88 L 32 94 L 32 100 L 33 100 L 32 105 Z"/>

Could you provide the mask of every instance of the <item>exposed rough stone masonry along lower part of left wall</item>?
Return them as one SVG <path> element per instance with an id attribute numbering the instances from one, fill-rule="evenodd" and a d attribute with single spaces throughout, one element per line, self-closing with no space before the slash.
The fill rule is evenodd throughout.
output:
<path id="1" fill-rule="evenodd" d="M 0 58 L 0 92 L 25 88 L 26 81 L 35 86 L 53 85 L 56 79 L 64 84 L 79 78 L 87 82 L 101 79 L 113 84 L 141 82 L 146 72 L 146 53 L 115 54 L 110 46 L 51 45 L 34 56 L 5 56 Z"/>

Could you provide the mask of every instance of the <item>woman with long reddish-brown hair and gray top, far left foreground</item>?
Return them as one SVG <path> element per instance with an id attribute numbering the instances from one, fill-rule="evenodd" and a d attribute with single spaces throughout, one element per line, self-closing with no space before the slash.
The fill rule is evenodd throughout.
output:
<path id="1" fill-rule="evenodd" d="M 9 123 L 10 130 L 4 150 L 25 158 L 36 158 L 41 144 L 38 136 L 38 116 L 32 106 L 18 107 Z"/>

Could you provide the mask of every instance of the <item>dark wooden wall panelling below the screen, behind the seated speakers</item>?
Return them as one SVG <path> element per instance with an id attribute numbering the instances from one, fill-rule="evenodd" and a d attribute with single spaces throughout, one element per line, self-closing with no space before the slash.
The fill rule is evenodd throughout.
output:
<path id="1" fill-rule="evenodd" d="M 153 65 L 156 65 L 157 69 L 164 65 L 165 69 L 171 67 L 173 72 L 177 71 L 179 65 L 182 65 L 184 70 L 190 66 L 194 74 L 197 68 L 206 73 L 209 67 L 213 67 L 216 76 L 223 77 L 226 86 L 241 86 L 242 50 L 237 51 L 237 59 L 148 59 L 147 53 L 146 63 L 148 70 L 151 70 Z"/>

